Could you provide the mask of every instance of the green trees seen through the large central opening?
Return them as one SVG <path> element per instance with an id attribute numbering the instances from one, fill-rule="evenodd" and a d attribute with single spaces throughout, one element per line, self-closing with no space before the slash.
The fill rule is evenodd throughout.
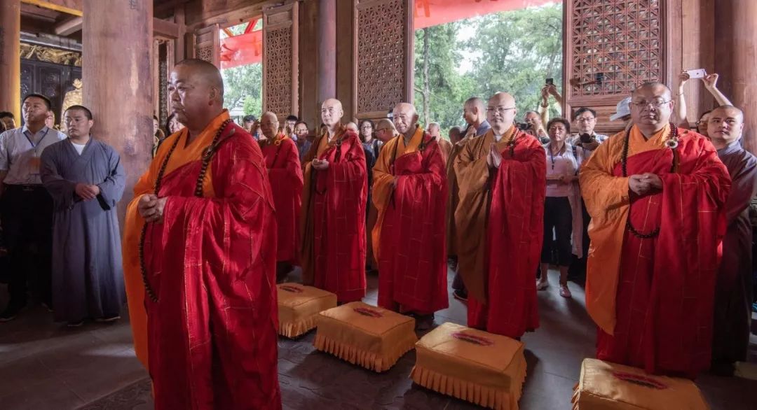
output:
<path id="1" fill-rule="evenodd" d="M 472 38 L 460 41 L 468 28 Z M 507 91 L 516 98 L 519 120 L 537 109 L 544 80 L 562 84 L 562 5 L 503 11 L 417 30 L 415 101 L 421 122 L 443 129 L 464 125 L 463 103 Z M 469 72 L 460 72 L 468 58 Z M 425 109 L 424 109 L 425 107 Z M 556 106 L 550 115 L 559 114 Z M 425 118 L 428 113 L 428 118 Z"/>

